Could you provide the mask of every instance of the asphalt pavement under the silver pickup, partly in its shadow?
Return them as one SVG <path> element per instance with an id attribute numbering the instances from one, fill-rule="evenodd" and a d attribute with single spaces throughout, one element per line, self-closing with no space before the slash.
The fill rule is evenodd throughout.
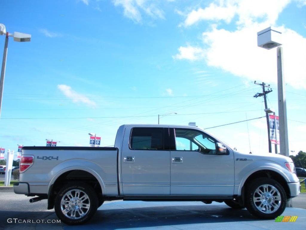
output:
<path id="1" fill-rule="evenodd" d="M 28 229 L 306 229 L 306 194 L 293 199 L 293 205 L 300 208 L 286 208 L 283 216 L 298 216 L 294 223 L 260 220 L 251 216 L 246 209 L 234 210 L 224 203 L 213 202 L 105 202 L 95 216 L 85 225 L 68 226 L 63 223 L 42 223 L 57 221 L 54 209 L 47 210 L 47 200 L 29 203 L 29 197 L 14 194 L 13 190 L 0 190 L 0 230 Z M 8 223 L 8 219 L 12 223 Z M 14 223 L 13 218 L 22 222 Z M 18 222 L 17 220 L 17 222 Z M 10 221 L 10 220 L 9 220 Z M 40 222 L 40 223 L 38 223 Z"/>

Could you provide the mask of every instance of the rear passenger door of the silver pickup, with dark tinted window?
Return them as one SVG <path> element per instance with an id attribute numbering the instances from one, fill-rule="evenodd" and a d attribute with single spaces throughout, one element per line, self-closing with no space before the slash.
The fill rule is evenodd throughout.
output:
<path id="1" fill-rule="evenodd" d="M 128 126 L 123 143 L 123 195 L 170 195 L 169 128 Z"/>

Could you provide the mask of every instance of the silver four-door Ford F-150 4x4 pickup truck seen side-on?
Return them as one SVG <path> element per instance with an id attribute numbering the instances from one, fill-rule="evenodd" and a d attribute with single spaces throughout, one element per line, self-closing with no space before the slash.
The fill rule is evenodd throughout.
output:
<path id="1" fill-rule="evenodd" d="M 243 154 L 195 126 L 122 125 L 114 148 L 23 147 L 14 192 L 48 199 L 66 224 L 104 201 L 212 201 L 281 215 L 300 193 L 289 157 Z"/>

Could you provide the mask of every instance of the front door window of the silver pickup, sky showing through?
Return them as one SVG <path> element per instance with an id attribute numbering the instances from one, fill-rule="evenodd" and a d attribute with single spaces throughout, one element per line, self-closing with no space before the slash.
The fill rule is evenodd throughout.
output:
<path id="1" fill-rule="evenodd" d="M 175 129 L 176 150 L 200 151 L 203 154 L 215 154 L 215 140 L 206 134 L 192 129 Z"/>

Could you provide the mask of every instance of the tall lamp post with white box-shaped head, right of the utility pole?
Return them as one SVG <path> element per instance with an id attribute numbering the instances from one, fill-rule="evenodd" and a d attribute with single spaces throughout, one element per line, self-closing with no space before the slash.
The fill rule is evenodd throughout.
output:
<path id="1" fill-rule="evenodd" d="M 283 55 L 280 43 L 281 33 L 268 27 L 257 33 L 257 45 L 265 49 L 277 47 L 277 84 L 278 84 L 278 114 L 279 114 L 279 147 L 280 154 L 289 156 L 287 107 L 285 97 L 285 80 L 283 76 Z"/>

